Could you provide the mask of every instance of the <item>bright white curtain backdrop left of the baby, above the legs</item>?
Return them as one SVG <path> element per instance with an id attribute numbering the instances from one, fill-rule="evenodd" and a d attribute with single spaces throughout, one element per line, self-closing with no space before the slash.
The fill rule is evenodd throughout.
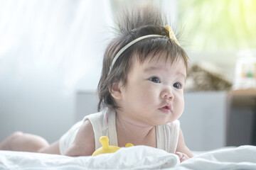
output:
<path id="1" fill-rule="evenodd" d="M 57 140 L 75 121 L 76 89 L 95 90 L 109 1 L 0 0 L 0 140 L 14 130 Z"/>

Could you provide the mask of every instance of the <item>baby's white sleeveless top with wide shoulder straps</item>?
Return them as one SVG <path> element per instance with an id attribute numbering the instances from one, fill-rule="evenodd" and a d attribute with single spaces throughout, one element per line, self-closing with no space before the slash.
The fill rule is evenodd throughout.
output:
<path id="1" fill-rule="evenodd" d="M 100 137 L 107 136 L 110 140 L 110 145 L 118 146 L 117 130 L 116 130 L 116 113 L 109 108 L 91 115 L 85 116 L 82 121 L 73 125 L 68 132 L 60 138 L 60 154 L 65 154 L 66 150 L 72 145 L 75 136 L 82 123 L 85 120 L 90 120 L 93 132 L 95 134 L 95 149 L 102 147 Z M 156 126 L 156 144 L 157 148 L 164 149 L 167 152 L 175 153 L 178 145 L 180 123 L 175 120 L 166 125 Z"/>

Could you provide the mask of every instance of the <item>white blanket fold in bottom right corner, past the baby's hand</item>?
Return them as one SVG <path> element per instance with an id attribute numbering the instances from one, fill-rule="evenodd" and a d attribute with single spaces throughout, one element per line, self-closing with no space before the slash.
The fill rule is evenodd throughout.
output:
<path id="1" fill-rule="evenodd" d="M 256 147 L 241 146 L 217 149 L 204 154 L 199 154 L 192 159 L 182 162 L 173 169 L 256 169 Z"/>

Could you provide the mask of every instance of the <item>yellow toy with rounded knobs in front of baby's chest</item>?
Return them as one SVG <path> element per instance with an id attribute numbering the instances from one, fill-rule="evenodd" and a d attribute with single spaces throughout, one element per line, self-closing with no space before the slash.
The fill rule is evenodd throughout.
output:
<path id="1" fill-rule="evenodd" d="M 120 149 L 120 147 L 110 146 L 109 141 L 110 141 L 109 138 L 106 136 L 100 137 L 100 143 L 102 144 L 102 147 L 95 150 L 95 152 L 93 152 L 92 156 L 96 156 L 98 154 L 113 153 L 113 152 L 116 152 L 118 149 Z M 133 145 L 131 143 L 127 143 L 127 145 L 125 145 L 125 147 L 132 147 L 132 146 Z"/>

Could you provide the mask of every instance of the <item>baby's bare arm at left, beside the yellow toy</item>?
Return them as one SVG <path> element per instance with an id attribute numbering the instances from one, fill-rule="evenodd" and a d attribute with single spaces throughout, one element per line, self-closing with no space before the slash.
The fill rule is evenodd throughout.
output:
<path id="1" fill-rule="evenodd" d="M 85 120 L 65 155 L 71 157 L 90 156 L 93 152 L 95 152 L 95 135 L 92 124 L 89 120 Z"/>

